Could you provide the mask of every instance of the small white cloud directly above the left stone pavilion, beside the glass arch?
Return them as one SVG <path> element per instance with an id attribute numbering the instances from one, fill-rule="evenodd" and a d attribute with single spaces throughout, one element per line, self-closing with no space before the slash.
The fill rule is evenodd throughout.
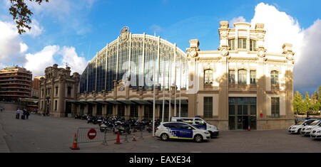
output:
<path id="1" fill-rule="evenodd" d="M 63 46 L 61 55 L 63 55 L 63 59 L 61 60 L 62 68 L 68 65 L 72 72 L 78 72 L 81 74 L 87 66 L 86 59 L 79 57 L 76 53 L 76 49 L 73 47 Z"/>

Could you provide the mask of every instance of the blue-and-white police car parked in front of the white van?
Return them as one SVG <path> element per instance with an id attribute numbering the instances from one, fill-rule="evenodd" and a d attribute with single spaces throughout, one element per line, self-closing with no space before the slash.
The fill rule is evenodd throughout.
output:
<path id="1" fill-rule="evenodd" d="M 192 139 L 199 143 L 210 139 L 208 131 L 198 129 L 198 127 L 185 122 L 161 122 L 156 128 L 155 135 L 161 138 L 162 141 L 168 141 L 169 139 Z"/>

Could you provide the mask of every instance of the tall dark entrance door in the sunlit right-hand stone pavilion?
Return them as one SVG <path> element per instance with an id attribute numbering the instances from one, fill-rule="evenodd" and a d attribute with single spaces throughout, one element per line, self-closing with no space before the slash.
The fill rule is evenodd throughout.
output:
<path id="1" fill-rule="evenodd" d="M 256 97 L 229 97 L 230 130 L 256 129 Z"/>

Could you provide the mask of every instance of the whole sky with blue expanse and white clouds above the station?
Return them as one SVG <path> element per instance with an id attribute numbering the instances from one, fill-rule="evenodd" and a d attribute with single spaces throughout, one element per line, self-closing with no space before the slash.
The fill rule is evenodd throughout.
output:
<path id="1" fill-rule="evenodd" d="M 114 41 L 123 26 L 131 33 L 161 36 L 178 48 L 190 39 L 200 50 L 218 50 L 220 21 L 265 24 L 265 48 L 295 52 L 295 91 L 312 94 L 321 85 L 321 1 L 213 0 L 49 0 L 28 2 L 34 13 L 31 31 L 17 33 L 10 0 L 0 0 L 0 68 L 19 65 L 33 76 L 58 64 L 80 74 L 98 51 Z"/>

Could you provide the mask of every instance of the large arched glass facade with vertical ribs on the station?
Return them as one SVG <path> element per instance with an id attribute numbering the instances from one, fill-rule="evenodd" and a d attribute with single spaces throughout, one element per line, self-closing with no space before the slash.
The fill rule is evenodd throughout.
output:
<path id="1" fill-rule="evenodd" d="M 114 80 L 126 78 L 134 90 L 153 89 L 153 80 L 161 90 L 175 83 L 178 90 L 188 89 L 186 54 L 175 44 L 146 34 L 128 33 L 126 39 L 122 37 L 106 45 L 88 63 L 80 79 L 81 93 L 111 91 Z"/>

